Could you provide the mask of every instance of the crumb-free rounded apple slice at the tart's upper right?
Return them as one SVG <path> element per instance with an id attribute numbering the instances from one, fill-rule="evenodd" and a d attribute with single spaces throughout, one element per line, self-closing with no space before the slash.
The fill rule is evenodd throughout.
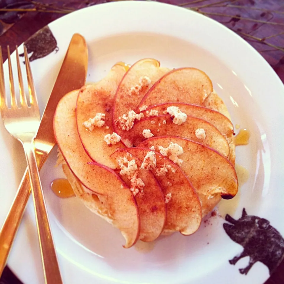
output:
<path id="1" fill-rule="evenodd" d="M 141 100 L 142 105 L 152 106 L 161 102 L 184 102 L 202 105 L 213 91 L 209 77 L 196 68 L 178 68 L 159 79 Z"/>

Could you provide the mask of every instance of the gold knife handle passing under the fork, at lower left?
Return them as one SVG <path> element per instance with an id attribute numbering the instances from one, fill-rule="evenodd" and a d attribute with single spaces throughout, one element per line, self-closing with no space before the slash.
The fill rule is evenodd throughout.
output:
<path id="1" fill-rule="evenodd" d="M 36 154 L 38 162 L 38 170 L 40 171 L 47 154 L 42 152 L 41 155 Z M 7 258 L 12 247 L 15 235 L 22 220 L 29 196 L 30 196 L 30 179 L 28 168 L 22 177 L 21 183 L 17 190 L 13 204 L 0 230 L 0 277 L 7 262 Z"/>

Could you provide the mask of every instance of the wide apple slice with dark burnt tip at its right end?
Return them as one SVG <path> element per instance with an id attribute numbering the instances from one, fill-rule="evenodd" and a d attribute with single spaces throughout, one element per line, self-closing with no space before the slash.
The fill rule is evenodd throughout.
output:
<path id="1" fill-rule="evenodd" d="M 233 164 L 209 147 L 176 136 L 153 137 L 138 147 L 154 146 L 157 150 L 159 146 L 168 147 L 170 142 L 183 148 L 183 154 L 178 156 L 183 161 L 180 168 L 196 188 L 203 216 L 213 209 L 220 196 L 230 199 L 237 194 L 238 178 Z"/>

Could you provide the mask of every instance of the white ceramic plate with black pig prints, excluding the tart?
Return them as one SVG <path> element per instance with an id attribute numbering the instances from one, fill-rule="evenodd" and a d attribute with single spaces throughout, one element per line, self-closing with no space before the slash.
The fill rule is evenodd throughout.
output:
<path id="1" fill-rule="evenodd" d="M 250 239 L 251 259 L 259 260 L 265 247 L 274 245 L 278 248 L 272 250 L 270 257 L 270 263 L 274 263 L 277 253 L 283 253 L 284 88 L 269 64 L 223 25 L 198 13 L 156 2 L 101 4 L 62 17 L 49 28 L 59 51 L 31 63 L 41 110 L 73 33 L 81 33 L 88 43 L 88 81 L 102 78 L 117 61 L 133 63 L 144 57 L 156 58 L 167 67 L 197 67 L 209 75 L 227 104 L 233 123 L 251 132 L 249 145 L 236 150 L 236 162 L 248 170 L 249 179 L 240 188 L 238 198 L 222 201 L 220 211 L 238 219 L 245 207 L 248 215 L 269 220 L 280 232 L 275 233 L 276 243 L 269 237 L 274 229 L 254 217 L 246 217 L 251 222 L 246 223 L 247 227 L 238 222 L 234 231 L 239 233 L 235 237 L 240 238 L 241 234 L 249 235 L 245 229 L 258 228 L 255 240 Z M 7 63 L 5 68 L 7 72 Z M 2 124 L 0 130 L 2 224 L 25 160 L 21 146 Z M 176 233 L 153 246 L 141 247 L 140 243 L 140 247 L 123 249 L 118 230 L 89 212 L 79 200 L 59 199 L 50 190 L 50 182 L 63 176 L 61 170 L 54 168 L 55 160 L 53 151 L 41 178 L 64 283 L 260 284 L 269 277 L 267 266 L 261 262 L 256 262 L 247 275 L 240 274 L 239 268 L 249 264 L 249 256 L 235 266 L 228 262 L 243 247 L 229 238 L 223 228 L 225 220 L 218 216 L 203 222 L 192 236 Z M 225 209 L 224 202 L 233 207 Z M 264 246 L 259 245 L 259 233 L 267 238 Z M 25 284 L 43 283 L 31 200 L 8 265 Z"/>

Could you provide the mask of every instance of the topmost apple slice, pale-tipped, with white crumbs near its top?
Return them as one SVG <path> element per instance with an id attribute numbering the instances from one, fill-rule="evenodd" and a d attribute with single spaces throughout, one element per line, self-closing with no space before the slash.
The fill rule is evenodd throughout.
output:
<path id="1" fill-rule="evenodd" d="M 149 88 L 168 71 L 168 68 L 160 67 L 156 59 L 146 58 L 137 61 L 125 73 L 117 88 L 113 112 L 114 131 L 122 137 L 122 141 L 125 131 L 117 125 L 117 119 L 131 110 L 135 111 Z M 144 82 L 141 81 L 143 78 Z"/>

